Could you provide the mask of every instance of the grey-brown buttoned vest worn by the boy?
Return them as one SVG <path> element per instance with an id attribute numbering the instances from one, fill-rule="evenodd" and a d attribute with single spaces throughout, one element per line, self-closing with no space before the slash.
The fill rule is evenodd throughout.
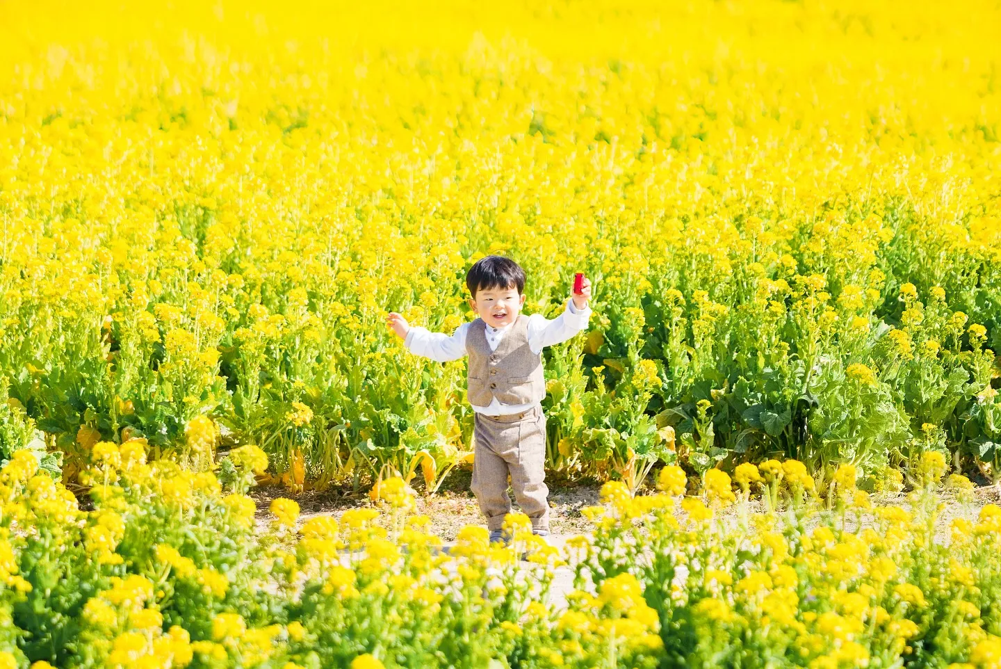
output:
<path id="1" fill-rule="evenodd" d="M 496 351 L 490 351 L 486 344 L 486 327 L 482 318 L 476 318 L 465 337 L 469 404 L 486 407 L 493 398 L 504 405 L 542 402 L 546 397 L 546 376 L 543 357 L 529 347 L 529 316 L 519 314 Z"/>

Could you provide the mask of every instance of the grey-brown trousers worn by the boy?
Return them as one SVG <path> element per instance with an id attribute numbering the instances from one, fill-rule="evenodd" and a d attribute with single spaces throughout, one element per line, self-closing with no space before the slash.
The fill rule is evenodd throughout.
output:
<path id="1" fill-rule="evenodd" d="M 473 423 L 472 493 L 489 530 L 499 530 L 511 511 L 508 475 L 534 531 L 549 532 L 546 479 L 546 416 L 536 406 L 523 414 L 483 416 Z"/>

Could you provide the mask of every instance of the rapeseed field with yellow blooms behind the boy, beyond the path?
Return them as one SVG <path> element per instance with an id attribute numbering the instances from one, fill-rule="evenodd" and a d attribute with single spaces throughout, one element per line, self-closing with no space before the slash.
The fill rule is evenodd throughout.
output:
<path id="1" fill-rule="evenodd" d="M 4 422 L 67 480 L 224 432 L 294 486 L 433 489 L 462 364 L 381 322 L 450 332 L 487 252 L 530 312 L 595 278 L 553 471 L 998 477 L 996 5 L 116 7 L 4 8 Z"/>

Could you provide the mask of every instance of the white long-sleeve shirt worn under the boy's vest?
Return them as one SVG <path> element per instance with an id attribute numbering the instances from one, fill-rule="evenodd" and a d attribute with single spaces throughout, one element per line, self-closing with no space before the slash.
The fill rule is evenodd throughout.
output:
<path id="1" fill-rule="evenodd" d="M 571 339 L 588 326 L 591 318 L 591 305 L 585 304 L 579 309 L 573 299 L 567 300 L 567 308 L 556 318 L 550 320 L 542 313 L 529 316 L 529 348 L 532 353 L 542 353 L 546 347 L 552 347 Z M 514 323 L 512 323 L 514 324 Z M 472 322 L 463 322 L 451 334 L 432 332 L 425 327 L 410 327 L 403 341 L 410 353 L 423 358 L 429 358 L 438 363 L 447 363 L 465 357 L 465 337 Z M 496 351 L 502 338 L 511 330 L 511 324 L 503 327 L 486 325 L 486 344 L 490 351 Z M 486 407 L 470 405 L 472 411 L 484 416 L 506 416 L 527 412 L 539 403 L 528 405 L 503 405 L 496 398 Z"/>

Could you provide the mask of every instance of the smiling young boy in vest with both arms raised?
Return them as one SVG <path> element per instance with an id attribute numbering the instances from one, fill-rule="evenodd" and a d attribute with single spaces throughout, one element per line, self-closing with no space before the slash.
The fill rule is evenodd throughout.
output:
<path id="1" fill-rule="evenodd" d="M 410 327 L 398 313 L 388 325 L 413 354 L 444 363 L 469 357 L 466 398 L 475 412 L 473 423 L 472 493 L 486 517 L 490 541 L 505 541 L 502 525 L 511 511 L 508 475 L 522 511 L 535 534 L 550 534 L 546 478 L 546 397 L 542 351 L 566 342 L 588 326 L 591 281 L 567 301 L 567 309 L 550 320 L 541 313 L 524 315 L 525 270 L 514 260 L 487 255 L 465 275 L 479 316 L 459 325 L 449 337 Z"/>

